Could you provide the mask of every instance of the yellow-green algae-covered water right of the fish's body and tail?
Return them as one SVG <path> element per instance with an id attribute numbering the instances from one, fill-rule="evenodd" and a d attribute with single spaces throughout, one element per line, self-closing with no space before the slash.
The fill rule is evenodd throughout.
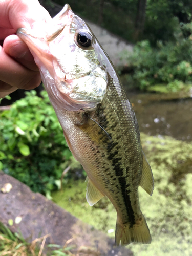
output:
<path id="1" fill-rule="evenodd" d="M 136 255 L 191 255 L 192 144 L 141 135 L 155 190 L 140 190 L 140 205 L 152 234 L 150 245 L 131 245 Z"/>

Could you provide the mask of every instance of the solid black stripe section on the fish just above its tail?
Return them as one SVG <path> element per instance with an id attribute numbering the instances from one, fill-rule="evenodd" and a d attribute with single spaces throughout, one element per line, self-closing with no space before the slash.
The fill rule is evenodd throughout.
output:
<path id="1" fill-rule="evenodd" d="M 118 177 L 120 188 L 121 188 L 121 194 L 123 196 L 124 205 L 126 208 L 127 216 L 128 216 L 128 222 L 130 223 L 130 227 L 133 227 L 135 224 L 135 216 L 134 211 L 131 205 L 130 195 L 125 190 L 126 187 L 126 179 L 125 177 Z"/>

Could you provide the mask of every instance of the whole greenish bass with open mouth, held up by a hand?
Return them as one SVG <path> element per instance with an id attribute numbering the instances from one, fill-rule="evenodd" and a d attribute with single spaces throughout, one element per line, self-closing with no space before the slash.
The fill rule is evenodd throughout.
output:
<path id="1" fill-rule="evenodd" d="M 87 173 L 89 205 L 110 199 L 117 212 L 117 246 L 151 243 L 138 187 L 152 195 L 153 174 L 110 58 L 68 4 L 51 22 L 20 28 L 17 35 L 34 56 L 67 144 Z"/>

